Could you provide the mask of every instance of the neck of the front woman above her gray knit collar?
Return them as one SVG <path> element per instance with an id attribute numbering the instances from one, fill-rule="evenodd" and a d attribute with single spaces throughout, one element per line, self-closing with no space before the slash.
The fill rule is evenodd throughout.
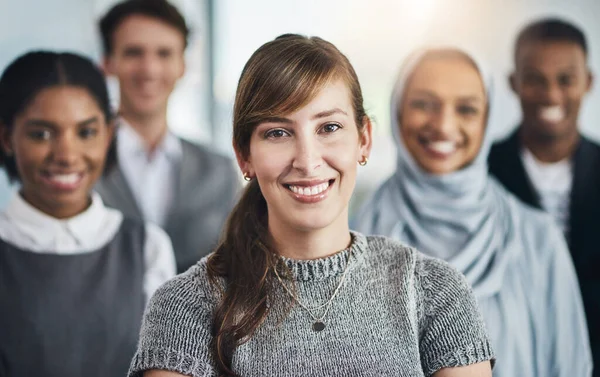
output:
<path id="1" fill-rule="evenodd" d="M 298 231 L 269 224 L 280 255 L 295 260 L 325 258 L 347 249 L 352 242 L 347 221 L 325 229 Z"/>

